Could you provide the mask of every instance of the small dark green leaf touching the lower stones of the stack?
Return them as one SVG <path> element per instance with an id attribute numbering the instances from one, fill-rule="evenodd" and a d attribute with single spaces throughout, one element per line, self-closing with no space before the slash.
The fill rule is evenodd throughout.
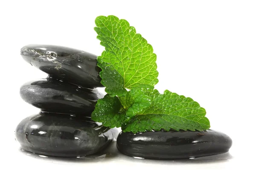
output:
<path id="1" fill-rule="evenodd" d="M 99 99 L 95 109 L 91 115 L 95 122 L 102 122 L 106 127 L 121 127 L 126 119 L 125 113 L 122 113 L 122 105 L 119 99 L 105 95 L 103 99 Z"/>

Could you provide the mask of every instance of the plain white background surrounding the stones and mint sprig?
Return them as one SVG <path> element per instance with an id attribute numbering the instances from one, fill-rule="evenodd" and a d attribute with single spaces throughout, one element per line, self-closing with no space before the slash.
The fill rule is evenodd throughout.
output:
<path id="1" fill-rule="evenodd" d="M 20 57 L 27 44 L 53 44 L 100 55 L 94 20 L 99 15 L 128 20 L 157 54 L 159 83 L 199 102 L 211 129 L 233 139 L 228 156 L 211 161 L 148 161 L 118 154 L 109 159 L 71 161 L 38 158 L 19 151 L 16 125 L 38 109 L 23 102 L 24 82 L 47 75 Z M 0 2 L 1 163 L 21 169 L 253 169 L 256 114 L 256 1 L 95 0 Z M 166 168 L 166 167 L 165 167 Z M 2 168 L 1 168 L 2 169 Z"/>

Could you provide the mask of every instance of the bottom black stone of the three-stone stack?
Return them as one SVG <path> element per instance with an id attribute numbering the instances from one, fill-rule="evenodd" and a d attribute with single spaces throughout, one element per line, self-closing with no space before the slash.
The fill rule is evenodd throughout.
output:
<path id="1" fill-rule="evenodd" d="M 15 130 L 21 149 L 47 156 L 76 157 L 108 146 L 116 129 L 98 125 L 88 117 L 40 113 L 23 119 Z"/>

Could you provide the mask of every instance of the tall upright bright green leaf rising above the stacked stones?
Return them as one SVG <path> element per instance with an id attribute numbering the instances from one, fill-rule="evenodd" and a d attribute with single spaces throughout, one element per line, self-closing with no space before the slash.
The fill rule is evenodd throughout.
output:
<path id="1" fill-rule="evenodd" d="M 100 77 L 111 96 L 125 96 L 127 89 L 154 88 L 158 82 L 153 48 L 126 20 L 99 16 L 94 30 L 105 51 L 98 57 Z"/>

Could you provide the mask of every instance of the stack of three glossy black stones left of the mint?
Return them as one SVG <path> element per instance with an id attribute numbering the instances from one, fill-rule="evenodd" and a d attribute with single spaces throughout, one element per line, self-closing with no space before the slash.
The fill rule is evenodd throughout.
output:
<path id="1" fill-rule="evenodd" d="M 78 157 L 103 150 L 116 131 L 94 122 L 102 87 L 97 56 L 55 45 L 26 45 L 21 56 L 49 75 L 20 88 L 21 98 L 38 114 L 23 119 L 15 130 L 23 150 L 47 156 Z"/>

